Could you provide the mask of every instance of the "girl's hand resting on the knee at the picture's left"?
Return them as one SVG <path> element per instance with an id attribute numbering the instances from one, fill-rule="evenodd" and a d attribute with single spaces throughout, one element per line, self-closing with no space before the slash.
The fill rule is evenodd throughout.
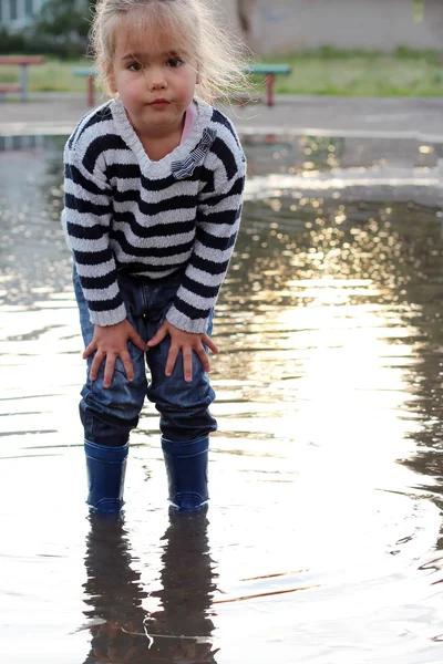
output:
<path id="1" fill-rule="evenodd" d="M 132 341 L 132 343 L 141 351 L 146 350 L 146 344 L 143 339 L 127 320 L 122 321 L 116 325 L 107 325 L 106 328 L 101 328 L 100 325 L 94 326 L 94 336 L 82 355 L 83 360 L 86 360 L 86 357 L 96 351 L 95 357 L 91 364 L 91 381 L 96 380 L 100 366 L 103 360 L 105 360 L 103 387 L 111 387 L 117 357 L 123 362 L 127 380 L 134 380 L 134 367 L 127 350 L 128 341 Z"/>

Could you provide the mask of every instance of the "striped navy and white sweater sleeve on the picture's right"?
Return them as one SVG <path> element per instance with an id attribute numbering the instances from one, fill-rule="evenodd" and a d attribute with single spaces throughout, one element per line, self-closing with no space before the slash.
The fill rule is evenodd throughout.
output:
<path id="1" fill-rule="evenodd" d="M 233 152 L 216 139 L 204 170 L 193 253 L 166 314 L 169 323 L 193 333 L 206 332 L 234 251 L 246 177 L 241 148 L 236 144 Z"/>

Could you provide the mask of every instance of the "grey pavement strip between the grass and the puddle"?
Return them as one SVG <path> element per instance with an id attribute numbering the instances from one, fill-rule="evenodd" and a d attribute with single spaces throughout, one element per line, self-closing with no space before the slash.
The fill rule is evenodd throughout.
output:
<path id="1" fill-rule="evenodd" d="M 104 100 L 102 100 L 104 101 Z M 96 103 L 101 102 L 97 96 Z M 440 97 L 333 97 L 277 95 L 264 103 L 222 106 L 241 133 L 300 133 L 379 135 L 441 141 L 443 100 Z M 89 112 L 86 94 L 32 93 L 29 102 L 0 102 L 0 135 L 70 133 Z"/>

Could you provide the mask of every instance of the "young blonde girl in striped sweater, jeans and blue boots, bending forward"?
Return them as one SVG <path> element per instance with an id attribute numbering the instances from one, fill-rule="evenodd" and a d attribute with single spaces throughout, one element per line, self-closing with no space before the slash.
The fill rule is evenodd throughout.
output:
<path id="1" fill-rule="evenodd" d="M 87 502 L 121 510 L 130 432 L 147 396 L 161 414 L 171 504 L 195 510 L 208 500 L 217 427 L 207 349 L 218 353 L 214 305 L 246 170 L 234 126 L 203 98 L 241 86 L 241 60 L 208 0 L 100 0 L 92 35 L 113 98 L 68 141 L 62 214 L 87 359 Z"/>

